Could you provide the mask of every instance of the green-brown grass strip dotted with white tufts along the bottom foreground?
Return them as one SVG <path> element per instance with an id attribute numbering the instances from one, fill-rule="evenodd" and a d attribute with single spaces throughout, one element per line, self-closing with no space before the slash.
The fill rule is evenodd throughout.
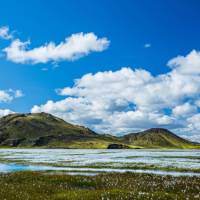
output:
<path id="1" fill-rule="evenodd" d="M 200 177 L 18 172 L 0 174 L 0 185 L 0 197 L 4 200 L 200 199 Z"/>

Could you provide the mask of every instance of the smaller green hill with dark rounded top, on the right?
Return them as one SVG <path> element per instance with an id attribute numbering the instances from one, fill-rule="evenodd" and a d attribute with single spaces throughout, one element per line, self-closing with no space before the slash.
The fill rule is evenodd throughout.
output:
<path id="1" fill-rule="evenodd" d="M 130 145 L 139 145 L 147 148 L 199 148 L 195 144 L 185 140 L 167 129 L 151 128 L 139 133 L 130 133 L 124 136 L 124 141 Z"/>

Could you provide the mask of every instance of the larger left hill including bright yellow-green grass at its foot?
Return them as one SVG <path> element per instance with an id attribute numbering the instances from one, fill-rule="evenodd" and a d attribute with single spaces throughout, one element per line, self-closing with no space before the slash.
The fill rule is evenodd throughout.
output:
<path id="1" fill-rule="evenodd" d="M 0 140 L 3 138 L 1 146 L 4 147 L 12 146 L 13 140 L 22 140 L 18 147 L 47 148 L 107 148 L 110 143 L 121 143 L 116 137 L 98 135 L 46 113 L 12 114 L 1 118 Z"/>

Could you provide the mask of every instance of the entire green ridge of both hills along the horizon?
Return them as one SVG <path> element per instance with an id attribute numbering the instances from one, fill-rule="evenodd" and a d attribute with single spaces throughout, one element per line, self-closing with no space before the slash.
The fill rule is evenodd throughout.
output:
<path id="1" fill-rule="evenodd" d="M 0 147 L 42 148 L 200 148 L 167 129 L 152 128 L 123 137 L 100 135 L 47 113 L 0 118 Z"/>

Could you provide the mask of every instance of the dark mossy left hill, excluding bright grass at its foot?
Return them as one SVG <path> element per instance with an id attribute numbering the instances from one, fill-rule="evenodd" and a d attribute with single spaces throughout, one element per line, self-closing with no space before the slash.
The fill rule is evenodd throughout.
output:
<path id="1" fill-rule="evenodd" d="M 10 114 L 0 119 L 1 146 L 45 146 L 96 138 L 92 130 L 47 113 Z"/>

